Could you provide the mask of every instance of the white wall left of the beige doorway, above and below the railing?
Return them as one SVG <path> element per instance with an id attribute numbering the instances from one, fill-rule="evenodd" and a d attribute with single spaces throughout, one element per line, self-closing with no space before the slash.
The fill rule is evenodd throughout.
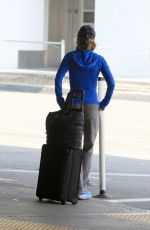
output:
<path id="1" fill-rule="evenodd" d="M 43 41 L 44 0 L 0 0 L 0 40 Z M 0 41 L 0 68 L 16 68 L 18 50 L 43 46 Z"/>

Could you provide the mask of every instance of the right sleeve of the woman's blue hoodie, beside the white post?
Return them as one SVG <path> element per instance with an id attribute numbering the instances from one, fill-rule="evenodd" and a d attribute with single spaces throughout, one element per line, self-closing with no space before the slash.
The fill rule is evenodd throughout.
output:
<path id="1" fill-rule="evenodd" d="M 107 83 L 107 90 L 104 99 L 100 102 L 99 106 L 101 109 L 105 109 L 105 107 L 109 104 L 114 88 L 115 88 L 115 81 L 113 78 L 113 75 L 110 71 L 110 68 L 106 62 L 106 60 L 102 59 L 102 67 L 101 67 L 101 73 L 106 80 Z"/>

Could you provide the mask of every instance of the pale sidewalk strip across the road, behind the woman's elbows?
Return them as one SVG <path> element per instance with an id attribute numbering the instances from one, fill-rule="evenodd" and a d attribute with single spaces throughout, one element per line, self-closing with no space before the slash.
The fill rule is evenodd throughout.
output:
<path id="1" fill-rule="evenodd" d="M 31 74 L 0 74 L 0 90 L 23 91 L 35 93 L 53 93 L 54 78 L 47 75 Z M 69 84 L 66 77 L 63 81 L 64 92 L 68 92 Z M 116 80 L 115 98 L 134 100 L 150 100 L 150 81 Z"/>

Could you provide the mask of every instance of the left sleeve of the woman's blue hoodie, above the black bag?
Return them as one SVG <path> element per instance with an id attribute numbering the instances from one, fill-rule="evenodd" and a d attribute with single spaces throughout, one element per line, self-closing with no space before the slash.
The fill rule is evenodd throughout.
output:
<path id="1" fill-rule="evenodd" d="M 65 55 L 63 58 L 60 67 L 57 71 L 56 78 L 55 78 L 55 93 L 56 93 L 56 100 L 60 108 L 62 109 L 64 106 L 64 98 L 62 95 L 62 80 L 68 71 L 68 54 Z"/>

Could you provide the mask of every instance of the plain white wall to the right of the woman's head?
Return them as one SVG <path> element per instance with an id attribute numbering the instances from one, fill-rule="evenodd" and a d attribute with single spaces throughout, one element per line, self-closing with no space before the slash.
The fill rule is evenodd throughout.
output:
<path id="1" fill-rule="evenodd" d="M 150 79 L 149 12 L 150 0 L 96 0 L 97 43 L 111 47 L 99 51 L 118 77 Z"/>

